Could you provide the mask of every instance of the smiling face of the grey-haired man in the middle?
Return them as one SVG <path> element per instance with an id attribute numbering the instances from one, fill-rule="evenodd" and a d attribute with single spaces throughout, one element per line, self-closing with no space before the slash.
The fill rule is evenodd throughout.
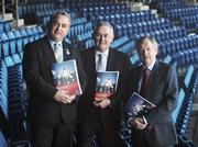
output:
<path id="1" fill-rule="evenodd" d="M 113 41 L 113 31 L 110 26 L 99 26 L 95 34 L 95 44 L 100 52 L 106 52 Z"/>

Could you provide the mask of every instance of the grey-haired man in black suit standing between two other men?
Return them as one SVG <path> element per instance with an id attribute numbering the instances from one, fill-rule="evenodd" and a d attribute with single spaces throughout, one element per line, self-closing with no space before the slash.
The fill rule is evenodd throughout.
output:
<path id="1" fill-rule="evenodd" d="M 122 120 L 122 98 L 124 75 L 130 69 L 129 56 L 110 48 L 113 41 L 113 29 L 108 22 L 99 22 L 94 31 L 95 47 L 86 49 L 81 54 L 84 68 L 88 78 L 87 87 L 82 98 L 77 105 L 78 146 L 91 147 L 94 136 L 99 146 L 123 146 L 120 137 Z M 99 54 L 105 54 L 103 69 L 119 71 L 117 92 L 110 98 L 96 99 L 97 67 L 99 66 Z"/>

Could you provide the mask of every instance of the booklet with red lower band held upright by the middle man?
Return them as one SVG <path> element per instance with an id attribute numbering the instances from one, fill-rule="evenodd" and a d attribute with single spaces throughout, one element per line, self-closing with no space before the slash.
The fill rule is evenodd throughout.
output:
<path id="1" fill-rule="evenodd" d="M 109 98 L 117 91 L 119 71 L 97 71 L 96 95 L 97 99 Z"/>

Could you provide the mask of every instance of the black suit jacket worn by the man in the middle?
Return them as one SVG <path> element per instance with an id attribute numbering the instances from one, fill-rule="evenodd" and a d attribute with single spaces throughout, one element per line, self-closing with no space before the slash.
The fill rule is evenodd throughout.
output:
<path id="1" fill-rule="evenodd" d="M 117 92 L 113 93 L 109 100 L 111 105 L 106 109 L 96 109 L 94 105 L 94 98 L 96 91 L 96 59 L 95 59 L 95 48 L 89 48 L 84 50 L 81 54 L 84 68 L 87 75 L 87 87 L 86 91 L 80 98 L 78 103 L 78 114 L 79 117 L 86 115 L 99 116 L 99 123 L 107 133 L 119 132 L 120 122 L 122 118 L 122 99 L 123 99 L 123 84 L 124 84 L 124 75 L 128 69 L 131 68 L 131 63 L 128 55 L 118 52 L 116 49 L 109 49 L 107 70 L 109 71 L 120 71 L 119 83 Z M 98 120 L 97 122 L 98 123 Z"/>

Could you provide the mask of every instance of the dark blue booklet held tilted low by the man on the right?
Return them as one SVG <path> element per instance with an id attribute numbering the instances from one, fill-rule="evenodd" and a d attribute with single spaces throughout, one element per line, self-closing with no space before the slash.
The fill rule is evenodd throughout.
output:
<path id="1" fill-rule="evenodd" d="M 139 93 L 133 92 L 124 106 L 124 114 L 135 117 L 147 113 L 153 108 L 155 108 L 155 104 L 147 101 Z"/>

